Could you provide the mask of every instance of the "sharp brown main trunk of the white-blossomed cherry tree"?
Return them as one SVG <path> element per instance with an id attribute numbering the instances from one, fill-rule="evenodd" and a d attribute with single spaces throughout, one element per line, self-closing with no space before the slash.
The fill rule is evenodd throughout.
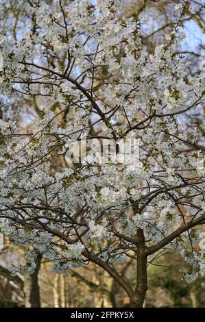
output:
<path id="1" fill-rule="evenodd" d="M 145 236 L 143 230 L 137 230 L 137 267 L 136 267 L 136 289 L 130 298 L 131 308 L 143 308 L 147 292 L 147 256 L 145 255 Z"/>

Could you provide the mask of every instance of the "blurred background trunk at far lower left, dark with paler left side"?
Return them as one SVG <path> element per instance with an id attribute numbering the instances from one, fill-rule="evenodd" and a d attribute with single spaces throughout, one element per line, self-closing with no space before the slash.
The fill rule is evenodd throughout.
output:
<path id="1" fill-rule="evenodd" d="M 36 268 L 33 274 L 25 275 L 24 293 L 26 308 L 40 308 L 40 289 L 38 285 L 38 273 L 40 271 L 40 262 L 42 255 L 38 254 L 36 258 Z"/>

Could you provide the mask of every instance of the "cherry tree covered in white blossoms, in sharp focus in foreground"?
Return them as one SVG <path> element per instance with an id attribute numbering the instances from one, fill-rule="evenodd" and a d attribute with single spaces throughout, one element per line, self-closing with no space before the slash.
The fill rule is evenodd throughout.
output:
<path id="1" fill-rule="evenodd" d="M 205 128 L 186 116 L 204 104 L 204 73 L 188 73 L 177 52 L 183 19 L 197 8 L 176 5 L 165 45 L 149 54 L 143 17 L 123 17 L 123 1 L 19 3 L 15 33 L 1 32 L 1 95 L 44 108 L 27 131 L 12 116 L 0 120 L 1 232 L 34 249 L 14 273 L 34 273 L 38 252 L 58 273 L 93 262 L 131 307 L 143 306 L 147 265 L 165 249 L 190 263 L 188 282 L 203 275 L 195 243 L 205 223 Z M 81 153 L 71 166 L 74 143 Z M 130 258 L 134 288 L 117 269 Z"/>

